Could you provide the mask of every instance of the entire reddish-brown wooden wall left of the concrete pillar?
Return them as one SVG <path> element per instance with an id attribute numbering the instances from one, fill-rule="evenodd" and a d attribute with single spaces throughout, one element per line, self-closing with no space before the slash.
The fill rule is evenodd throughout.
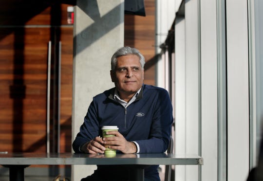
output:
<path id="1" fill-rule="evenodd" d="M 60 27 L 67 6 L 0 2 L 0 151 L 46 152 L 48 42 L 55 38 L 62 45 L 60 151 L 71 151 L 73 26 Z"/>

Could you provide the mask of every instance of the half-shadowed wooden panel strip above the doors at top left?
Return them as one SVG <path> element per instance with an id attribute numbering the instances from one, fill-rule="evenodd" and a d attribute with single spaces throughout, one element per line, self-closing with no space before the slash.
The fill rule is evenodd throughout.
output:
<path id="1" fill-rule="evenodd" d="M 50 0 L 1 0 L 0 25 L 66 25 L 67 6 L 71 5 Z M 60 19 L 55 24 L 51 18 L 54 9 Z"/>

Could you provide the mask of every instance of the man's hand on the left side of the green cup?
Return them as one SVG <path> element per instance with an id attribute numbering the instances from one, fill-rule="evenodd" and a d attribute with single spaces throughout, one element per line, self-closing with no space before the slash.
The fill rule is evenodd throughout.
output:
<path id="1" fill-rule="evenodd" d="M 98 136 L 80 147 L 80 150 L 82 152 L 90 153 L 90 154 L 97 154 L 97 153 L 103 154 L 105 149 L 106 148 L 103 146 L 102 138 Z"/>

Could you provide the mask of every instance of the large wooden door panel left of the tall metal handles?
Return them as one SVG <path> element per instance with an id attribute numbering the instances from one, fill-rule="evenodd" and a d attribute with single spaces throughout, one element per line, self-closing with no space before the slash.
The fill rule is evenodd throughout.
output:
<path id="1" fill-rule="evenodd" d="M 0 41 L 0 127 L 9 124 L 0 132 L 0 149 L 45 152 L 49 29 L 1 28 L 0 33 L 6 35 Z"/>

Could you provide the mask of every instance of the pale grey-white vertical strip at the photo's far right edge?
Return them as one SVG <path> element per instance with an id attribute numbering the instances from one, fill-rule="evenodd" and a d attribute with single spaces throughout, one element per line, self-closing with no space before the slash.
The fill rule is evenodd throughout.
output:
<path id="1" fill-rule="evenodd" d="M 248 0 L 250 168 L 257 165 L 263 130 L 263 1 Z"/>

